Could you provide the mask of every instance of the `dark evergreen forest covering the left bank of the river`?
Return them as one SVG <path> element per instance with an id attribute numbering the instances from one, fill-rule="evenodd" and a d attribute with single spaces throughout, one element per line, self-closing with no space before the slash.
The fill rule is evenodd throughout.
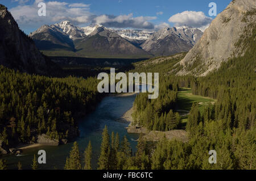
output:
<path id="1" fill-rule="evenodd" d="M 94 109 L 101 95 L 96 78 L 48 78 L 0 67 L 0 140 L 14 146 L 77 136 L 77 118 Z"/>

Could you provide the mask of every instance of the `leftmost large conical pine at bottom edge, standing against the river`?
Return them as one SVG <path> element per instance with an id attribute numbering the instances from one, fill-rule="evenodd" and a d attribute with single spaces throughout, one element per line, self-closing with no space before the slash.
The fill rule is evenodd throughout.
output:
<path id="1" fill-rule="evenodd" d="M 75 141 L 72 150 L 69 153 L 69 157 L 66 159 L 65 170 L 81 170 L 81 161 L 80 161 L 80 153 L 79 153 L 79 145 Z"/>

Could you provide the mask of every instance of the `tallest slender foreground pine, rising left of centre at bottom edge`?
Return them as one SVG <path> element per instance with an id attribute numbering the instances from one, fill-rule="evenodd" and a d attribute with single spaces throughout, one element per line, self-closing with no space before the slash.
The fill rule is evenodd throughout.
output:
<path id="1" fill-rule="evenodd" d="M 101 154 L 98 159 L 98 170 L 108 170 L 110 168 L 109 165 L 110 160 L 110 140 L 108 127 L 105 125 L 102 133 L 102 142 L 101 142 Z"/>

